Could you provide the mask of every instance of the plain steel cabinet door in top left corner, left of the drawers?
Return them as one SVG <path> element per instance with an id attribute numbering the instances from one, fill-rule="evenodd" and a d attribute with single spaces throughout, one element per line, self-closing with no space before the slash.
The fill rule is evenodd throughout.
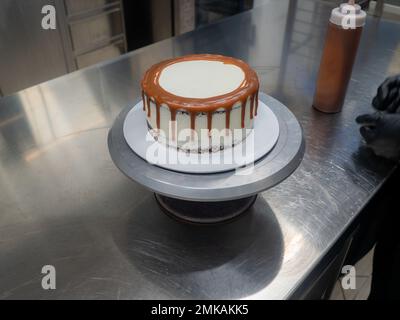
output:
<path id="1" fill-rule="evenodd" d="M 59 29 L 42 29 L 44 5 L 55 6 L 55 1 L 0 1 L 0 88 L 4 95 L 67 73 Z"/>

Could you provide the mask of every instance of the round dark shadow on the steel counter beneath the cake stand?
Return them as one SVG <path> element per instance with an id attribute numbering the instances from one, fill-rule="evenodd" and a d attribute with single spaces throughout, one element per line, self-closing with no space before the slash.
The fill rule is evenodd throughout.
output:
<path id="1" fill-rule="evenodd" d="M 265 288 L 282 264 L 281 229 L 261 197 L 232 222 L 203 226 L 173 220 L 149 197 L 125 223 L 114 240 L 159 287 L 154 298 L 245 298 Z"/>

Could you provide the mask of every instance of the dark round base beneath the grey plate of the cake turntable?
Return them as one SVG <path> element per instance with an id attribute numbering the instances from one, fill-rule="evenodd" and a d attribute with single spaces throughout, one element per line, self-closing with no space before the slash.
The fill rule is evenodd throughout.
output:
<path id="1" fill-rule="evenodd" d="M 180 200 L 155 193 L 163 211 L 183 222 L 210 224 L 231 220 L 254 204 L 257 195 L 228 201 L 199 202 Z"/>

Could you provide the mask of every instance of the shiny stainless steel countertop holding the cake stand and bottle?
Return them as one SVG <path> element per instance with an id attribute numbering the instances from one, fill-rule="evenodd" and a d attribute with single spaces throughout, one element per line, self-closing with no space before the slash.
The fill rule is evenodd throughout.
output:
<path id="1" fill-rule="evenodd" d="M 344 110 L 325 115 L 311 102 L 330 9 L 271 1 L 1 99 L 0 298 L 290 296 L 394 167 L 359 148 L 354 118 L 400 71 L 400 25 L 368 19 Z M 300 167 L 226 225 L 170 219 L 107 150 L 143 72 L 194 52 L 248 61 L 304 129 Z M 56 290 L 41 288 L 43 265 Z"/>

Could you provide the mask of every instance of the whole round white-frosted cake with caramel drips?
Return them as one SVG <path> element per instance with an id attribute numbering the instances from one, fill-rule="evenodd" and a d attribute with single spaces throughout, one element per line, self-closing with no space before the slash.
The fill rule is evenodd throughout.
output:
<path id="1" fill-rule="evenodd" d="M 165 60 L 147 70 L 141 86 L 148 128 L 169 146 L 216 151 L 253 128 L 259 82 L 242 60 L 211 54 Z"/>

